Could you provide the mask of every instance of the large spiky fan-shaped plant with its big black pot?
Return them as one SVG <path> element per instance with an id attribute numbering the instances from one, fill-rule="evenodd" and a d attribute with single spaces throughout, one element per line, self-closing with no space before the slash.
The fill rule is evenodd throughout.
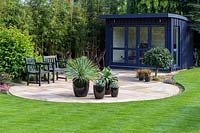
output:
<path id="1" fill-rule="evenodd" d="M 70 59 L 67 63 L 66 76 L 73 80 L 73 90 L 76 97 L 86 97 L 89 91 L 89 81 L 99 75 L 99 69 L 87 57 Z"/>

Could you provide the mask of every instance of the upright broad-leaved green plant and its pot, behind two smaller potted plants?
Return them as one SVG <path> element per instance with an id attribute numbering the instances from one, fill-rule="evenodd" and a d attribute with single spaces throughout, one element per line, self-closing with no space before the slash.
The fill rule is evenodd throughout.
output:
<path id="1" fill-rule="evenodd" d="M 112 74 L 112 69 L 110 67 L 104 67 L 102 70 L 102 77 L 106 81 L 106 86 L 105 86 L 105 95 L 110 95 L 111 90 L 110 90 L 110 83 L 113 81 L 118 81 L 117 77 Z"/>

